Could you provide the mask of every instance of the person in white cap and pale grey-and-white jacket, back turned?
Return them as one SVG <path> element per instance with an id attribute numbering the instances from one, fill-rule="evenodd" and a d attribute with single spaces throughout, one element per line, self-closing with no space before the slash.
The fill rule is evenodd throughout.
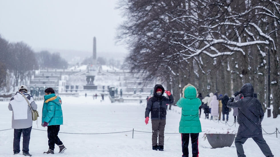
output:
<path id="1" fill-rule="evenodd" d="M 28 103 L 27 103 L 28 101 Z M 13 111 L 12 128 L 14 129 L 13 152 L 20 152 L 20 137 L 23 134 L 22 154 L 24 156 L 32 156 L 29 154 L 29 140 L 32 129 L 32 110 L 37 110 L 37 104 L 33 100 L 32 95 L 27 93 L 25 85 L 19 86 L 19 91 L 10 99 L 9 110 Z"/>

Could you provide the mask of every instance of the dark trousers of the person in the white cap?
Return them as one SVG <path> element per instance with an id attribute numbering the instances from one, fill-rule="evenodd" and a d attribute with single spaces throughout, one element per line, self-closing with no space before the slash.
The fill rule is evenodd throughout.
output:
<path id="1" fill-rule="evenodd" d="M 29 140 L 30 140 L 31 129 L 32 127 L 26 129 L 14 129 L 14 143 L 13 143 L 14 153 L 20 152 L 19 142 L 20 142 L 21 133 L 23 134 L 22 152 L 27 154 L 29 153 Z"/>

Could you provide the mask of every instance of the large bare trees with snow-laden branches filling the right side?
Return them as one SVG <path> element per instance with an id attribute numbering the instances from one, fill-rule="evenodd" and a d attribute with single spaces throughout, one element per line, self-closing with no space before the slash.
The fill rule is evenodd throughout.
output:
<path id="1" fill-rule="evenodd" d="M 263 109 L 271 97 L 273 117 L 280 114 L 279 2 L 121 0 L 119 9 L 127 19 L 118 36 L 129 44 L 127 64 L 146 71 L 146 80 L 166 82 L 175 99 L 187 83 L 206 96 L 231 94 L 251 82 Z"/>

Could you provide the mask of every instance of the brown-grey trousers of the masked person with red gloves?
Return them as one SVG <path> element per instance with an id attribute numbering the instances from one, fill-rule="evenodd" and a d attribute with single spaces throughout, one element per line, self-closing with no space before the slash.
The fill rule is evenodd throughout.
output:
<path id="1" fill-rule="evenodd" d="M 165 128 L 166 120 L 152 120 L 152 146 L 157 145 L 157 135 L 159 135 L 159 145 L 164 145 L 164 128 Z"/>

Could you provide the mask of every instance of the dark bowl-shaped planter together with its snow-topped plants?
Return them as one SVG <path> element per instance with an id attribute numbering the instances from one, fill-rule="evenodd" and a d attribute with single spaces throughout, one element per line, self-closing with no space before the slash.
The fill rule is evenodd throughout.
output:
<path id="1" fill-rule="evenodd" d="M 230 147 L 233 144 L 236 135 L 235 130 L 217 130 L 209 129 L 205 131 L 203 135 L 204 140 L 208 140 L 212 148 Z"/>

